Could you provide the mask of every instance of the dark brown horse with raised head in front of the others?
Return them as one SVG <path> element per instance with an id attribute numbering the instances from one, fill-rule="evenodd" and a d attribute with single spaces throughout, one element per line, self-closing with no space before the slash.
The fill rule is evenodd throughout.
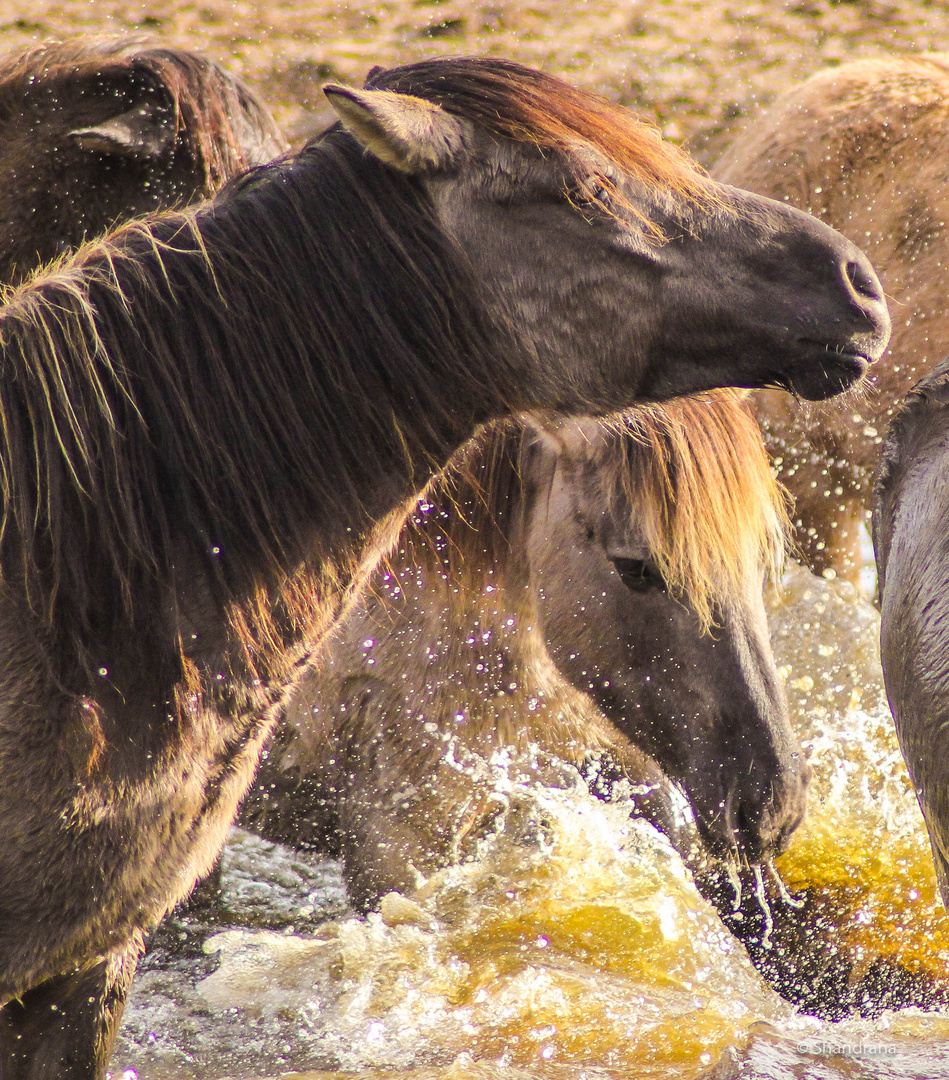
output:
<path id="1" fill-rule="evenodd" d="M 879 357 L 866 257 L 510 62 L 340 122 L 0 309 L 0 1065 L 98 1077 L 307 658 L 476 428 Z"/>

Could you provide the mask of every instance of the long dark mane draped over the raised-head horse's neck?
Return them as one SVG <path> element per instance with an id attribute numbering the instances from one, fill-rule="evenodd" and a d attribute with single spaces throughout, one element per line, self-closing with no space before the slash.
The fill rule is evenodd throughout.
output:
<path id="1" fill-rule="evenodd" d="M 488 373 L 503 392 L 476 296 L 420 186 L 339 129 L 86 244 L 0 310 L 3 585 L 77 653 L 152 632 L 184 548 L 222 610 L 259 598 L 250 637 L 280 639 L 274 590 L 308 625 L 294 576 L 358 546 L 331 508 L 368 534 L 358 492 L 444 460 Z"/>

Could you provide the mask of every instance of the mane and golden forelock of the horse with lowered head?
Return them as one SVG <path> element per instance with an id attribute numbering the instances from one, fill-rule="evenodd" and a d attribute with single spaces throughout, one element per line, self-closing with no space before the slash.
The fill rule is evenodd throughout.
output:
<path id="1" fill-rule="evenodd" d="M 762 572 L 779 578 L 788 535 L 784 489 L 738 390 L 719 390 L 580 421 L 610 503 L 629 508 L 667 588 L 706 631 L 743 606 Z M 414 557 L 477 592 L 498 588 L 527 513 L 537 434 L 489 426 L 432 485 L 409 519 Z"/>

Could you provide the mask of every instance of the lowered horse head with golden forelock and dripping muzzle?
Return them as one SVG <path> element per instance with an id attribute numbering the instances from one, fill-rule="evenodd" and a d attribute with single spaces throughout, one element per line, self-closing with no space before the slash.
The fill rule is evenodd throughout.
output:
<path id="1" fill-rule="evenodd" d="M 758 862 L 808 769 L 764 616 L 784 507 L 732 395 L 561 423 L 538 448 L 527 546 L 556 663 L 686 791 L 710 851 Z"/>

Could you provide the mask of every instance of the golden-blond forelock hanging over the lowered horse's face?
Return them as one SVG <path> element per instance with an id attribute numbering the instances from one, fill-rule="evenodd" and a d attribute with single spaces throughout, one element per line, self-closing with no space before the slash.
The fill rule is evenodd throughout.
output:
<path id="1" fill-rule="evenodd" d="M 674 594 L 706 629 L 777 579 L 788 505 L 744 393 L 721 390 L 631 410 L 592 445 L 613 507 L 627 505 Z"/>

